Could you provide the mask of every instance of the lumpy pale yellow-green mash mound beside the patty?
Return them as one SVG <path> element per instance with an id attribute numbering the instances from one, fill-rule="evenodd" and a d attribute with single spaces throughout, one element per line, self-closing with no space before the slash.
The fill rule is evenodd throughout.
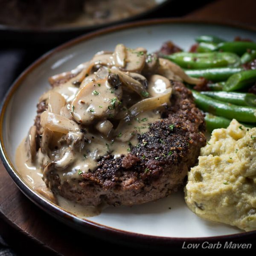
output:
<path id="1" fill-rule="evenodd" d="M 189 172 L 185 200 L 201 218 L 256 229 L 256 128 L 233 119 L 212 132 Z"/>

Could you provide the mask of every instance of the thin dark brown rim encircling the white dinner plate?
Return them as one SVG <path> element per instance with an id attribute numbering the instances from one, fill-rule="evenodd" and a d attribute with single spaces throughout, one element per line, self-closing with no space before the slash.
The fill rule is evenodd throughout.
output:
<path id="1" fill-rule="evenodd" d="M 68 212 L 64 211 L 63 209 L 59 208 L 57 205 L 49 202 L 47 199 L 40 197 L 37 195 L 28 185 L 17 175 L 14 166 L 12 166 L 11 161 L 9 160 L 6 149 L 3 143 L 3 119 L 5 116 L 6 107 L 12 98 L 12 95 L 15 93 L 15 90 L 19 87 L 21 82 L 34 70 L 38 67 L 41 63 L 46 61 L 52 55 L 60 52 L 63 49 L 69 48 L 76 44 L 79 44 L 81 41 L 86 41 L 91 38 L 95 38 L 97 36 L 105 35 L 111 32 L 117 32 L 120 30 L 131 29 L 134 27 L 143 27 L 143 26 L 150 26 L 150 25 L 161 25 L 161 24 L 178 24 L 178 23 L 198 23 L 198 24 L 207 24 L 207 25 L 219 25 L 219 26 L 228 26 L 228 27 L 235 27 L 239 29 L 245 29 L 249 31 L 256 32 L 255 27 L 244 26 L 237 23 L 230 23 L 230 22 L 222 22 L 216 20 L 201 20 L 201 19 L 172 19 L 172 18 L 165 18 L 165 19 L 153 19 L 153 20 L 142 20 L 137 22 L 125 23 L 118 26 L 112 26 L 106 29 L 100 29 L 96 32 L 91 32 L 86 35 L 82 35 L 78 38 L 75 38 L 67 43 L 61 44 L 59 47 L 52 49 L 51 51 L 47 52 L 46 54 L 42 55 L 38 58 L 34 63 L 32 63 L 20 76 L 15 80 L 12 84 L 6 96 L 1 104 L 0 108 L 0 158 L 3 161 L 3 165 L 5 166 L 7 172 L 12 177 L 18 188 L 35 204 L 37 204 L 41 209 L 48 212 L 53 217 L 57 218 L 59 221 L 68 224 L 71 227 L 75 227 L 76 229 L 89 233 L 93 236 L 100 236 L 103 239 L 112 240 L 113 237 L 118 237 L 123 241 L 130 241 L 130 242 L 148 242 L 154 244 L 166 244 L 168 242 L 169 245 L 175 244 L 177 242 L 183 241 L 217 241 L 223 239 L 241 239 L 241 238 L 248 238 L 248 237 L 255 237 L 256 230 L 250 232 L 243 232 L 243 233 L 236 233 L 231 235 L 224 235 L 224 236 L 210 236 L 210 237 L 166 237 L 166 236 L 152 236 L 152 235 L 145 235 L 140 233 L 133 233 L 125 230 L 118 230 L 113 227 L 108 227 L 102 224 L 98 224 L 96 222 L 90 220 L 81 220 L 74 215 L 69 214 Z M 138 240 L 139 239 L 139 240 Z M 137 241 L 136 241 L 137 240 Z"/>

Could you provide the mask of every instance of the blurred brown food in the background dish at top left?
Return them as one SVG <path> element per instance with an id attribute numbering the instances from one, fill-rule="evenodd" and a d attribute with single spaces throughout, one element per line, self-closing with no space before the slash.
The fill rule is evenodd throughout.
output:
<path id="1" fill-rule="evenodd" d="M 138 15 L 163 0 L 0 0 L 0 24 L 18 28 L 93 26 Z"/>

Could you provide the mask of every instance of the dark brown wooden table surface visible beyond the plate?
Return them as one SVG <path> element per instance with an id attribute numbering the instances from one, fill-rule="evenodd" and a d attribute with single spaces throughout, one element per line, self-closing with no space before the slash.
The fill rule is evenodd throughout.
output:
<path id="1" fill-rule="evenodd" d="M 184 4 L 186 2 L 184 1 Z M 255 0 L 218 0 L 186 15 L 187 18 L 228 21 L 256 27 Z M 0 230 L 1 235 L 19 250 L 48 255 L 90 255 L 90 249 L 98 253 L 109 250 L 126 250 L 128 247 L 110 244 L 80 234 L 44 213 L 29 201 L 15 186 L 0 163 Z M 99 241 L 99 246 L 92 246 Z M 41 245 L 41 247 L 38 247 Z M 38 250 L 40 248 L 40 250 Z M 54 253 L 55 252 L 55 253 Z"/>

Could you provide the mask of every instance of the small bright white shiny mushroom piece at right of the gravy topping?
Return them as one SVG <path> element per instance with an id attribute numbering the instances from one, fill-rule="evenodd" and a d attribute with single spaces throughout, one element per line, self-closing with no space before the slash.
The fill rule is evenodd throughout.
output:
<path id="1" fill-rule="evenodd" d="M 169 87 L 171 87 L 171 83 L 164 76 L 152 75 L 148 80 L 148 93 L 151 97 L 164 93 Z"/>

